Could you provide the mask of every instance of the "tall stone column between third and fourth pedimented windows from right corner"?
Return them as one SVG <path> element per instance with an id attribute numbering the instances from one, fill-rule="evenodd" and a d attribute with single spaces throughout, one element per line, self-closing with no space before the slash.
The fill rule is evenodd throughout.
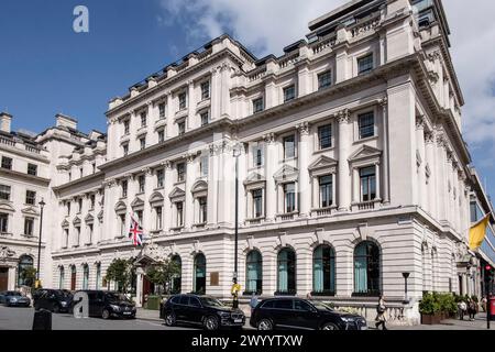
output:
<path id="1" fill-rule="evenodd" d="M 273 175 L 276 173 L 276 167 L 278 165 L 277 145 L 275 143 L 275 134 L 270 133 L 263 136 L 266 143 L 266 157 L 265 157 L 265 169 L 266 169 L 266 190 L 265 190 L 265 217 L 266 221 L 272 222 L 275 220 L 276 206 L 277 206 L 277 194 L 275 179 Z"/>

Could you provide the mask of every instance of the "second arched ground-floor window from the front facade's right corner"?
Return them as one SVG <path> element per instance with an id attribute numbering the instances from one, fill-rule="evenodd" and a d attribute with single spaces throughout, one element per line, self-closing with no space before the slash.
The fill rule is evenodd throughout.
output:
<path id="1" fill-rule="evenodd" d="M 336 294 L 336 253 L 330 245 L 320 245 L 312 253 L 312 294 Z"/>

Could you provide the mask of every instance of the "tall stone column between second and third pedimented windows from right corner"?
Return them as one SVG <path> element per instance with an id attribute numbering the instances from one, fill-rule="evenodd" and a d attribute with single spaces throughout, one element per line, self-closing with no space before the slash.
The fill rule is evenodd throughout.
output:
<path id="1" fill-rule="evenodd" d="M 298 197 L 299 217 L 309 217 L 311 211 L 311 184 L 309 179 L 309 161 L 311 158 L 311 138 L 308 122 L 297 125 L 299 130 L 299 154 L 297 157 L 299 168 Z"/>

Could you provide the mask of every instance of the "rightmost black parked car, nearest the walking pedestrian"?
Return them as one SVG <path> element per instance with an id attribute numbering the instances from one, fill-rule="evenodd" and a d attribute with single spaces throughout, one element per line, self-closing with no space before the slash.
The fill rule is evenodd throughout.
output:
<path id="1" fill-rule="evenodd" d="M 338 312 L 318 300 L 273 298 L 257 304 L 250 324 L 257 330 L 366 330 L 366 319 Z"/>

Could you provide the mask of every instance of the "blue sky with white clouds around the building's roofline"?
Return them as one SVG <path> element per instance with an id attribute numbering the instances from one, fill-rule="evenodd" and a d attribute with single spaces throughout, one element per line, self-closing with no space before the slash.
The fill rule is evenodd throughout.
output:
<path id="1" fill-rule="evenodd" d="M 41 132 L 63 112 L 106 131 L 108 101 L 212 37 L 230 33 L 258 56 L 279 54 L 307 23 L 345 0 L 2 0 L 0 111 L 13 130 Z M 495 3 L 443 1 L 464 91 L 463 132 L 474 165 L 495 195 Z M 73 31 L 89 9 L 89 33 Z M 289 23 L 289 25 L 287 25 Z M 479 23 L 473 26 L 471 23 Z M 483 48 L 485 55 L 479 55 Z M 475 65 L 473 65 L 475 63 Z"/>

